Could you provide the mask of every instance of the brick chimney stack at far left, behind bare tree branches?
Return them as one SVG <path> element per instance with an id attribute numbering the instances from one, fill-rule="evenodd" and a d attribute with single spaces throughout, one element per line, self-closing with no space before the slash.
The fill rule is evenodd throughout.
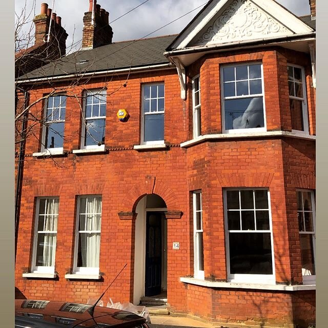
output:
<path id="1" fill-rule="evenodd" d="M 56 13 L 52 13 L 52 10 L 48 7 L 48 4 L 41 4 L 41 12 L 33 19 L 35 24 L 35 46 L 41 46 L 47 43 L 49 25 L 50 29 L 50 41 L 48 46 L 48 55 L 52 59 L 57 59 L 66 54 L 66 39 L 68 34 L 65 29 L 61 27 L 61 18 L 57 17 Z"/>

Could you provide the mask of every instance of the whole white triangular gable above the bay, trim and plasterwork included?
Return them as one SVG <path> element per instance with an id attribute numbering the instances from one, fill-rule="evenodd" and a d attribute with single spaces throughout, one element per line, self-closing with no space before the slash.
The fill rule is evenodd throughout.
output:
<path id="1" fill-rule="evenodd" d="M 167 50 L 274 39 L 313 31 L 274 0 L 212 0 Z"/>

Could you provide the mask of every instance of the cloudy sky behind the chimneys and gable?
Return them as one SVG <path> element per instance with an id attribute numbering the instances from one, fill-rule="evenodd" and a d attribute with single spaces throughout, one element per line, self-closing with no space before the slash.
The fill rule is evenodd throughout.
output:
<path id="1" fill-rule="evenodd" d="M 40 13 L 42 3 L 46 2 L 49 8 L 52 8 L 53 0 L 15 0 L 15 13 L 22 12 L 25 2 L 28 3 L 31 11 L 33 1 L 35 11 L 32 9 L 30 20 Z M 98 0 L 97 4 L 109 12 L 109 20 L 112 22 L 143 2 L 145 0 Z M 177 22 L 148 37 L 179 33 L 207 2 L 208 0 L 148 0 L 144 5 L 110 24 L 114 32 L 113 42 L 145 37 L 172 20 L 199 7 L 185 17 L 178 19 Z M 309 0 L 277 0 L 277 2 L 298 16 L 310 14 Z M 88 9 L 89 0 L 54 0 L 53 12 L 61 17 L 61 25 L 69 34 L 66 42 L 67 47 L 75 44 L 77 49 L 80 45 L 83 16 Z"/>

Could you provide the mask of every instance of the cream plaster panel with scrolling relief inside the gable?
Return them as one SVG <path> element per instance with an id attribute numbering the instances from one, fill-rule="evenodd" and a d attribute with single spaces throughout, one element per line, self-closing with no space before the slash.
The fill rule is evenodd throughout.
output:
<path id="1" fill-rule="evenodd" d="M 234 0 L 210 24 L 206 32 L 194 39 L 193 46 L 293 34 L 250 0 Z"/>

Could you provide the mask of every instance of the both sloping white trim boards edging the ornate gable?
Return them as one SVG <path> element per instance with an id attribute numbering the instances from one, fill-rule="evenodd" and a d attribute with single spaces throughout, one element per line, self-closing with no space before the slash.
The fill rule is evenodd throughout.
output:
<path id="1" fill-rule="evenodd" d="M 301 34 L 314 31 L 308 25 L 303 23 L 299 18 L 282 8 L 273 0 L 248 0 L 261 10 L 272 16 L 278 23 L 290 30 L 287 34 Z M 211 19 L 216 15 L 222 14 L 233 0 L 213 0 L 209 6 L 199 14 L 194 22 L 183 32 L 170 47 L 171 49 L 187 48 L 201 31 L 206 30 Z M 281 35 L 279 35 L 281 36 Z"/>

